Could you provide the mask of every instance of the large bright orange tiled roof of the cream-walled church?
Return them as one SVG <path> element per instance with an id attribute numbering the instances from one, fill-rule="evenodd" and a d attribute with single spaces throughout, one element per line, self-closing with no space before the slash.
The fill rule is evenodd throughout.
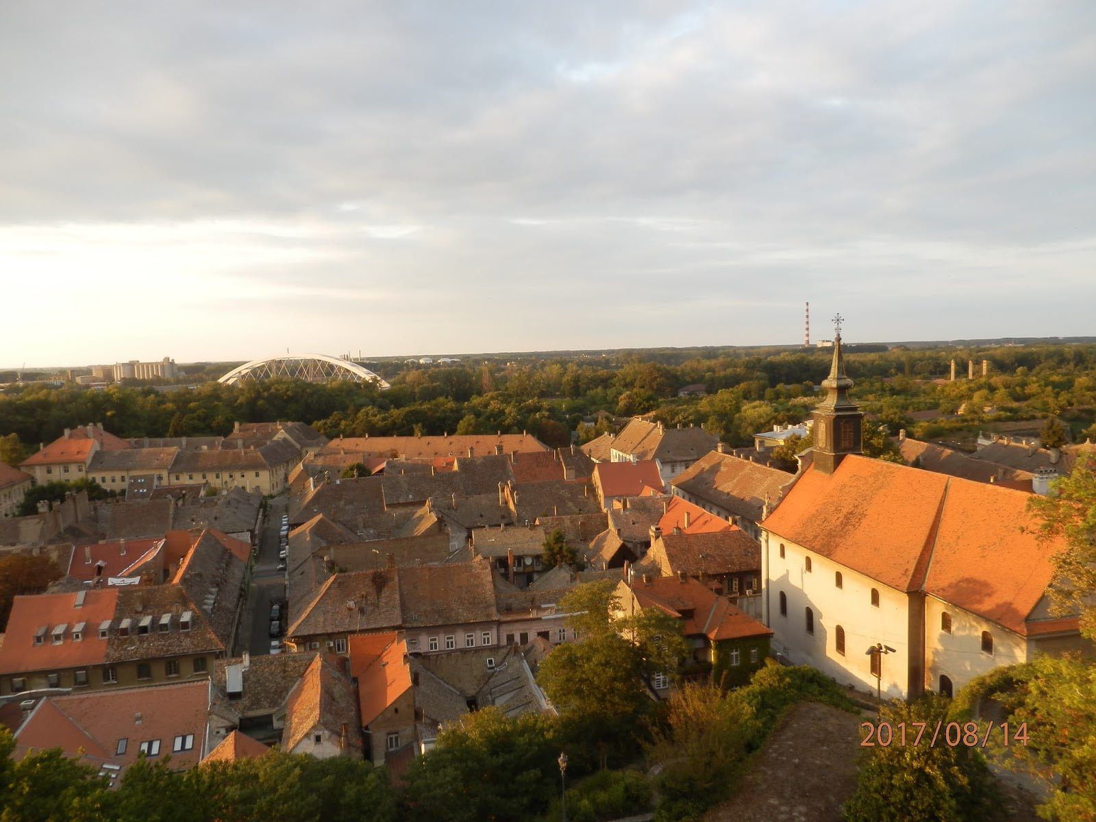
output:
<path id="1" fill-rule="evenodd" d="M 1025 632 L 1063 548 L 1023 529 L 1029 498 L 849 456 L 831 476 L 808 470 L 764 527 L 899 591 L 923 589 Z"/>

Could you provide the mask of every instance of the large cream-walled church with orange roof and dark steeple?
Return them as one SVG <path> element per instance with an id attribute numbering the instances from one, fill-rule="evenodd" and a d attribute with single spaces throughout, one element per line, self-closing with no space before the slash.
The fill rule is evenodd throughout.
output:
<path id="1" fill-rule="evenodd" d="M 1030 494 L 861 454 L 841 334 L 814 447 L 761 524 L 762 615 L 773 651 L 888 697 L 950 696 L 1038 653 L 1091 652 L 1050 614 L 1053 555 Z"/>

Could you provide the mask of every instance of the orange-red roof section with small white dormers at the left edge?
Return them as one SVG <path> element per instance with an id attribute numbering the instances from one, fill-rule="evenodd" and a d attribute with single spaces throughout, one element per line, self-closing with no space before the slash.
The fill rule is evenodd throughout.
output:
<path id="1" fill-rule="evenodd" d="M 76 607 L 81 594 L 83 605 Z M 117 589 L 16 596 L 0 646 L 0 674 L 102 664 L 109 641 L 99 638 L 99 625 L 114 618 L 117 601 Z M 82 638 L 73 641 L 72 628 L 79 623 L 84 623 Z M 54 644 L 54 629 L 61 625 L 64 639 Z M 35 644 L 41 629 L 45 629 L 42 643 Z"/>

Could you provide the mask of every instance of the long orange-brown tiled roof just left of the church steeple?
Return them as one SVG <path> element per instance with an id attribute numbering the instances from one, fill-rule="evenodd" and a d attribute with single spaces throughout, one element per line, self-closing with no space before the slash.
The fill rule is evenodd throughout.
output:
<path id="1" fill-rule="evenodd" d="M 795 480 L 787 471 L 711 452 L 670 480 L 686 493 L 758 522 L 765 498 L 775 505 Z"/>

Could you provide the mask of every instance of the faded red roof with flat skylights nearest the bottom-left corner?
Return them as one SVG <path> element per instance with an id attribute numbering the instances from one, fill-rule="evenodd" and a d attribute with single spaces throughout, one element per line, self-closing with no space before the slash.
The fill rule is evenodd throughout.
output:
<path id="1" fill-rule="evenodd" d="M 171 770 L 197 765 L 209 747 L 208 677 L 140 688 L 52 694 L 37 700 L 15 733 L 14 756 L 60 749 L 117 785 L 144 757 Z"/>

